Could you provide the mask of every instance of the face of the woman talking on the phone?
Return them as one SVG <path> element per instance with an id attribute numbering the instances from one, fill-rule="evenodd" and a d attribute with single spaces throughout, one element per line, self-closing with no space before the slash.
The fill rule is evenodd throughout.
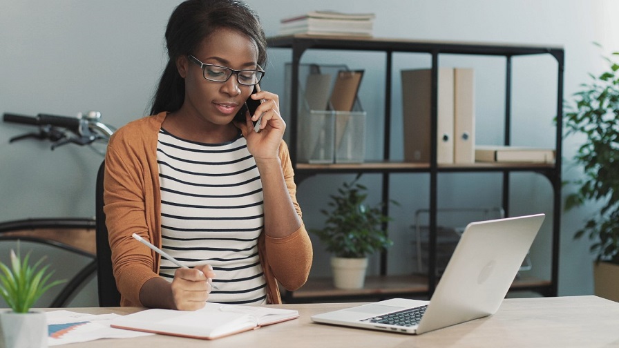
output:
<path id="1" fill-rule="evenodd" d="M 227 28 L 214 32 L 191 55 L 204 64 L 235 70 L 258 68 L 258 48 L 254 41 Z M 185 79 L 183 108 L 204 122 L 229 124 L 254 90 L 254 86 L 238 84 L 236 74 L 225 82 L 208 81 L 204 79 L 200 66 L 187 57 L 180 57 L 178 66 Z"/>

